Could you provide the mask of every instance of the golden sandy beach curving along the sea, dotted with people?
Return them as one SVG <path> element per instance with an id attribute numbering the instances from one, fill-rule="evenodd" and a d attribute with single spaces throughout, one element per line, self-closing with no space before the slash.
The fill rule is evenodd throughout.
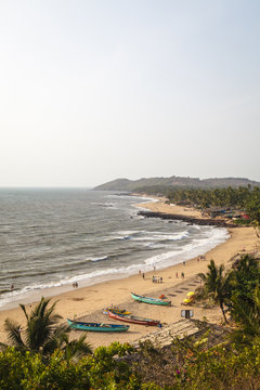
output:
<path id="1" fill-rule="evenodd" d="M 166 205 L 164 200 L 157 203 L 148 203 L 139 205 L 153 211 L 172 212 L 198 218 L 199 211 L 193 209 L 184 209 L 179 206 Z M 116 280 L 96 284 L 90 287 L 77 288 L 68 292 L 52 297 L 52 301 L 57 301 L 56 312 L 66 318 L 78 318 L 80 321 L 115 323 L 119 322 L 109 320 L 102 311 L 107 306 L 114 304 L 123 309 L 128 309 L 133 315 L 145 316 L 150 318 L 160 320 L 164 324 L 169 324 L 181 320 L 181 304 L 186 294 L 194 290 L 199 285 L 196 276 L 199 272 L 207 272 L 207 265 L 210 259 L 217 264 L 224 263 L 227 269 L 231 266 L 230 259 L 236 253 L 251 252 L 259 248 L 259 239 L 257 238 L 252 227 L 229 229 L 230 238 L 227 240 L 205 255 L 206 260 L 197 261 L 191 259 L 185 264 L 177 264 L 164 270 L 151 270 L 142 275 L 136 274 L 123 280 Z M 204 253 L 202 253 L 204 255 Z M 142 270 L 141 270 L 142 271 Z M 181 273 L 184 278 L 181 278 Z M 177 277 L 178 273 L 178 277 Z M 162 277 L 162 283 L 152 283 L 153 276 Z M 79 286 L 80 287 L 80 286 Z M 171 300 L 171 307 L 158 307 L 153 304 L 139 303 L 131 298 L 130 292 L 146 295 L 158 298 L 164 294 Z M 35 303 L 27 304 L 28 310 Z M 188 307 L 185 307 L 188 308 Z M 194 307 L 194 317 L 203 320 L 206 317 L 210 322 L 220 323 L 221 313 L 216 309 L 202 309 Z M 22 325 L 24 314 L 20 308 L 12 310 L 3 310 L 0 312 L 0 340 L 6 342 L 4 333 L 4 320 L 10 317 L 17 321 Z M 122 334 L 103 334 L 89 333 L 88 341 L 95 348 L 99 346 L 108 346 L 113 341 L 132 342 L 142 336 L 156 330 L 154 327 L 131 325 L 127 333 Z M 79 333 L 72 332 L 72 337 L 77 337 Z M 81 335 L 81 333 L 80 333 Z"/>

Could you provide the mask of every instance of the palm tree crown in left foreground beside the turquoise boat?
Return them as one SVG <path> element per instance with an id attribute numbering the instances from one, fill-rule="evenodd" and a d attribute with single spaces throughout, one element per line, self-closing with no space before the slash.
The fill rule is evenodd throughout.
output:
<path id="1" fill-rule="evenodd" d="M 56 302 L 50 308 L 48 307 L 49 302 L 49 299 L 42 297 L 30 313 L 27 313 L 24 304 L 20 304 L 27 321 L 24 330 L 16 322 L 9 318 L 5 320 L 5 330 L 11 343 L 18 350 L 40 352 L 43 356 L 49 356 L 55 349 L 63 350 L 65 355 L 67 353 L 67 356 L 72 356 L 73 352 L 78 354 L 79 351 L 90 353 L 90 346 L 84 343 L 86 337 L 81 337 L 78 343 L 75 340 L 69 342 L 67 334 L 70 332 L 70 328 L 63 324 L 56 325 L 62 316 L 54 313 Z M 1 346 L 6 347 L 4 344 Z M 69 354 L 66 352 L 68 350 L 70 351 Z"/>

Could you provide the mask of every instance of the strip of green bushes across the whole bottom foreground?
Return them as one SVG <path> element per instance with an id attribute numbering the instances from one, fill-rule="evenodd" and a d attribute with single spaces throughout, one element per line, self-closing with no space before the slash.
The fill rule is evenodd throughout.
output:
<path id="1" fill-rule="evenodd" d="M 128 344 L 114 343 L 99 348 L 74 363 L 64 359 L 64 352 L 55 351 L 48 364 L 40 354 L 21 352 L 8 348 L 0 352 L 1 390 L 246 390 L 259 389 L 260 382 L 260 338 L 256 337 L 250 347 L 237 350 L 235 346 L 223 344 L 207 349 L 205 334 L 196 342 L 188 339 L 174 340 L 172 364 L 164 363 L 166 351 L 158 352 L 158 361 L 164 367 L 161 374 L 168 377 L 162 385 L 159 369 L 153 367 L 160 385 L 147 377 L 142 379 L 143 366 L 139 364 L 139 375 L 132 364 L 123 360 L 132 353 Z M 155 349 L 145 349 L 146 359 L 153 362 Z M 156 359 L 157 359 L 156 358 Z M 160 363 L 160 360 L 162 362 Z M 136 372 L 136 369 L 135 369 Z"/>

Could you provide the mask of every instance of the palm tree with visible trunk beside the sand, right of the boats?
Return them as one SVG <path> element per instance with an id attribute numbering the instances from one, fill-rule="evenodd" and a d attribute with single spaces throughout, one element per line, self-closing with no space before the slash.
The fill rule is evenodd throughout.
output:
<path id="1" fill-rule="evenodd" d="M 206 274 L 198 274 L 204 282 L 202 290 L 205 297 L 212 298 L 219 304 L 224 322 L 227 323 L 224 303 L 231 297 L 231 274 L 224 275 L 224 265 L 217 266 L 213 260 L 210 260 L 208 269 Z"/>

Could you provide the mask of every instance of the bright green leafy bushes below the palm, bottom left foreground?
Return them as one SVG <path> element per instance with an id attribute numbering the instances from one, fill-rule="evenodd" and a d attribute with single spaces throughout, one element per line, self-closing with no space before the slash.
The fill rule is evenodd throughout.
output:
<path id="1" fill-rule="evenodd" d="M 40 354 L 8 348 L 0 352 L 0 389 L 138 390 L 141 389 L 138 377 L 119 359 L 131 351 L 132 347 L 115 342 L 96 349 L 93 355 L 75 364 L 56 350 L 44 364 Z"/>

